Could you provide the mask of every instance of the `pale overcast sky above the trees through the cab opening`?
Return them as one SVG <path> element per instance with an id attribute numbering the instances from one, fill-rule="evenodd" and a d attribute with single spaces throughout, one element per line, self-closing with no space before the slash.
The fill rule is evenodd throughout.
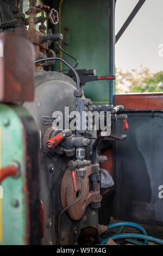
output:
<path id="1" fill-rule="evenodd" d="M 138 1 L 117 0 L 115 34 Z M 142 65 L 152 72 L 163 70 L 163 56 L 159 57 L 160 44 L 163 47 L 163 0 L 146 0 L 116 44 L 116 68 L 139 70 Z"/>

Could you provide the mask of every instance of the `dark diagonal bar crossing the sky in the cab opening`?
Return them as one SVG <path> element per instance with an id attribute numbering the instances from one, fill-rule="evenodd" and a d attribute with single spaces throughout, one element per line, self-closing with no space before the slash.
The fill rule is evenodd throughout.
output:
<path id="1" fill-rule="evenodd" d="M 139 2 L 136 4 L 134 10 L 130 13 L 127 20 L 124 22 L 123 26 L 121 27 L 120 31 L 116 35 L 116 42 L 120 39 L 120 37 L 123 35 L 124 31 L 128 28 L 131 21 L 134 19 L 142 5 L 146 2 L 146 0 L 139 0 Z"/>

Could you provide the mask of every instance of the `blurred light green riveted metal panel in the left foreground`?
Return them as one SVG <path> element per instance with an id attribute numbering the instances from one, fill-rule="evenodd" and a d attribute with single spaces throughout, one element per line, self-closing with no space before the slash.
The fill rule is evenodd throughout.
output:
<path id="1" fill-rule="evenodd" d="M 0 202 L 0 245 L 25 245 L 26 198 L 24 186 L 23 127 L 12 107 L 0 104 L 1 168 L 17 161 L 21 175 L 2 181 L 3 198 Z M 2 192 L 2 190 L 1 190 Z M 1 211 L 0 210 L 0 211 Z M 1 237 L 2 236 L 2 237 Z"/>

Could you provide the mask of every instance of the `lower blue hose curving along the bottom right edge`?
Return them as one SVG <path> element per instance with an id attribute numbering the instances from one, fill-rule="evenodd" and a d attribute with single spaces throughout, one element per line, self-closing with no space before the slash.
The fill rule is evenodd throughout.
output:
<path id="1" fill-rule="evenodd" d="M 101 245 L 105 245 L 105 243 L 108 242 L 109 239 L 117 240 L 117 239 L 123 239 L 123 238 L 145 239 L 145 240 L 160 243 L 160 245 L 163 245 L 163 240 L 161 240 L 161 239 L 155 238 L 153 236 L 142 235 L 142 234 L 134 234 L 134 233 L 112 235 L 112 236 L 108 237 L 107 239 L 104 239 L 102 241 Z"/>

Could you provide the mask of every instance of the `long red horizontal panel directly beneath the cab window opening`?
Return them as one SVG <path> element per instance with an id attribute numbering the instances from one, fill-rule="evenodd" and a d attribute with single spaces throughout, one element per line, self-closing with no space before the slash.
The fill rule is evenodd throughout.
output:
<path id="1" fill-rule="evenodd" d="M 114 96 L 114 105 L 131 110 L 163 110 L 163 93 L 121 94 Z"/>

